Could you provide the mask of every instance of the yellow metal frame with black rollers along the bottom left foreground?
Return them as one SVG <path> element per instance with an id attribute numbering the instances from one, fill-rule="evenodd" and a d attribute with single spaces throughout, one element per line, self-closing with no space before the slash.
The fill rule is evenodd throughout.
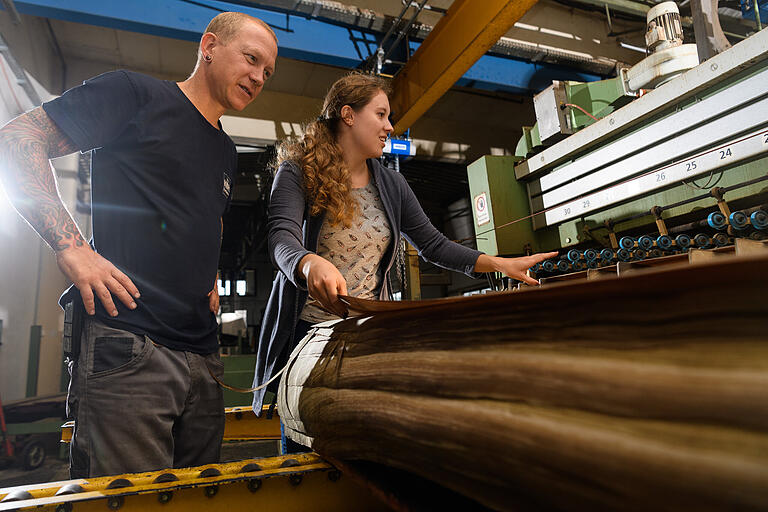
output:
<path id="1" fill-rule="evenodd" d="M 0 512 L 389 510 L 316 453 L 0 489 Z"/>

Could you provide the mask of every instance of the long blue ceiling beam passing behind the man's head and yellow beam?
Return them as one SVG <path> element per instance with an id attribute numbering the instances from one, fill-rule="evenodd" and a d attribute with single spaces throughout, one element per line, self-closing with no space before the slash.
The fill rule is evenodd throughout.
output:
<path id="1" fill-rule="evenodd" d="M 303 15 L 257 9 L 221 0 L 15 0 L 18 12 L 75 23 L 197 42 L 206 25 L 223 11 L 240 11 L 268 23 L 279 39 L 278 55 L 296 60 L 355 68 L 360 54 L 350 29 Z M 382 34 L 373 34 L 380 39 Z M 372 39 L 372 38 L 371 38 Z M 411 48 L 418 47 L 411 42 Z M 491 91 L 532 94 L 553 79 L 594 81 L 603 77 L 573 68 L 486 55 L 458 85 Z"/>

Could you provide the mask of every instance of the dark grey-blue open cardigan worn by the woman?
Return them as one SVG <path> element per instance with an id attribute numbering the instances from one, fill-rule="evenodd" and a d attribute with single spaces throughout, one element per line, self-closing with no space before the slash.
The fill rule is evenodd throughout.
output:
<path id="1" fill-rule="evenodd" d="M 463 272 L 472 277 L 479 251 L 448 240 L 429 221 L 416 196 L 400 173 L 387 169 L 378 160 L 368 160 L 368 169 L 376 184 L 387 220 L 392 229 L 383 261 L 386 262 L 382 279 L 381 297 L 389 296 L 389 271 L 395 262 L 398 233 L 419 251 L 419 255 L 432 263 Z M 272 263 L 279 269 L 272 292 L 264 310 L 259 332 L 259 351 L 253 385 L 269 380 L 285 352 L 286 344 L 293 344 L 294 328 L 299 313 L 307 300 L 307 287 L 299 277 L 299 262 L 317 250 L 323 215 L 310 216 L 305 200 L 301 170 L 292 163 L 280 165 L 272 185 L 269 203 L 269 253 Z M 281 361 L 282 362 L 282 361 Z M 264 390 L 254 393 L 253 410 L 261 413 Z"/>

